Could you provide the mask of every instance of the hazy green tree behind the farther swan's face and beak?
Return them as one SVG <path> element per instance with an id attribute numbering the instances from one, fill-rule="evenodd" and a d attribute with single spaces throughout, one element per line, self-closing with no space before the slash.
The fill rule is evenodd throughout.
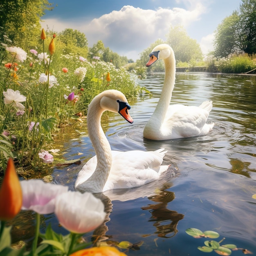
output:
<path id="1" fill-rule="evenodd" d="M 145 49 L 143 52 L 141 52 L 139 54 L 140 58 L 139 58 L 139 60 L 136 61 L 136 64 L 139 67 L 146 67 L 146 63 L 149 61 L 150 52 L 152 52 L 154 47 L 156 47 L 157 45 L 160 45 L 162 43 L 164 43 L 164 41 L 162 39 L 157 39 L 155 41 L 155 43 L 152 43 L 147 49 Z M 164 70 L 164 63 L 162 61 L 157 61 L 153 65 L 151 65 L 150 67 L 147 67 L 147 71 L 150 71 L 150 70 L 163 71 Z"/>

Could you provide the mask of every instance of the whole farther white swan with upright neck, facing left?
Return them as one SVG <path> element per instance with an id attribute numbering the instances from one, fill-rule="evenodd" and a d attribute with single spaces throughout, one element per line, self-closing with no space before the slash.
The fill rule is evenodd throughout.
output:
<path id="1" fill-rule="evenodd" d="M 181 104 L 169 105 L 175 83 L 175 56 L 173 49 L 167 44 L 157 45 L 149 54 L 147 67 L 157 59 L 164 60 L 165 77 L 159 102 L 153 115 L 144 127 L 146 139 L 166 140 L 205 135 L 214 126 L 206 124 L 212 101 L 204 101 L 199 107 Z"/>

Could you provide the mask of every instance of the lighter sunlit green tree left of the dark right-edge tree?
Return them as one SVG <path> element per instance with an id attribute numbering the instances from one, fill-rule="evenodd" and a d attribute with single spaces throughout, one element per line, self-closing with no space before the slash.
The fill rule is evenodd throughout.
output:
<path id="1" fill-rule="evenodd" d="M 227 57 L 229 54 L 239 52 L 240 47 L 237 41 L 239 26 L 238 11 L 234 11 L 231 16 L 226 17 L 218 25 L 215 31 L 214 56 Z"/>

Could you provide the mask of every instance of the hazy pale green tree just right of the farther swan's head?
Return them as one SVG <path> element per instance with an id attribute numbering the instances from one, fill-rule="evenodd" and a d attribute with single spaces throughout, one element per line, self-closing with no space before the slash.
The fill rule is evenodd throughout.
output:
<path id="1" fill-rule="evenodd" d="M 190 38 L 182 25 L 171 26 L 167 37 L 167 44 L 173 48 L 176 62 L 190 62 L 202 60 L 202 50 L 195 39 Z"/>

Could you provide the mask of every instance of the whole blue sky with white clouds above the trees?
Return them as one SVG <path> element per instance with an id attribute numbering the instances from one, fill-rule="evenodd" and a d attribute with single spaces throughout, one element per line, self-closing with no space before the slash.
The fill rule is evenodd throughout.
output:
<path id="1" fill-rule="evenodd" d="M 54 2 L 52 2 L 54 1 Z M 102 40 L 120 56 L 136 61 L 139 53 L 161 38 L 170 26 L 182 25 L 197 40 L 203 54 L 213 50 L 214 31 L 238 10 L 241 0 L 49 0 L 42 27 L 66 28 L 85 34 L 88 46 Z"/>

